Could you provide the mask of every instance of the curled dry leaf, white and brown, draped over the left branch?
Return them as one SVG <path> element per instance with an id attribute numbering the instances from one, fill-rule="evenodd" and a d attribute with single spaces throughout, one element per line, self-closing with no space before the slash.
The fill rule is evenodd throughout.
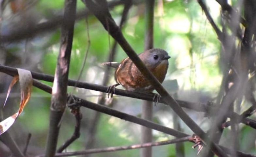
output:
<path id="1" fill-rule="evenodd" d="M 25 105 L 27 104 L 29 98 L 31 97 L 31 92 L 32 92 L 32 75 L 30 71 L 24 70 L 24 69 L 17 69 L 18 74 L 17 76 L 14 76 L 12 79 L 12 82 L 9 86 L 8 92 L 7 92 L 7 97 L 5 100 L 6 101 L 9 97 L 11 88 L 13 85 L 19 80 L 20 81 L 20 86 L 21 86 L 21 103 L 20 103 L 20 108 L 19 111 L 12 116 L 6 118 L 2 122 L 0 122 L 0 135 L 3 134 L 5 131 L 7 131 L 11 125 L 15 122 L 15 120 L 18 118 L 18 116 L 21 114 L 23 111 Z M 5 105 L 4 104 L 4 105 Z"/>

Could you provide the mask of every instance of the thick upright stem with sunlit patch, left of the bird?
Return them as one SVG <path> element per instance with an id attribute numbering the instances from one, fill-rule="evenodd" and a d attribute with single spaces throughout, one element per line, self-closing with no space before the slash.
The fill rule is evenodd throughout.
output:
<path id="1" fill-rule="evenodd" d="M 61 27 L 61 44 L 52 90 L 50 128 L 48 132 L 46 154 L 54 156 L 58 140 L 61 117 L 67 102 L 69 63 L 73 41 L 76 0 L 65 0 L 64 17 Z"/>

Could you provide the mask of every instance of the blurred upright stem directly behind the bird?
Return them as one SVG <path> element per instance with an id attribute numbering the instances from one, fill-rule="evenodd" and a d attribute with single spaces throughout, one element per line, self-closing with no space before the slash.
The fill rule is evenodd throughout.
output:
<path id="1" fill-rule="evenodd" d="M 145 45 L 144 50 L 153 48 L 153 25 L 154 25 L 154 3 L 155 0 L 147 0 L 145 3 Z M 144 101 L 142 104 L 141 117 L 151 121 L 153 104 L 151 101 Z M 152 129 L 142 126 L 141 127 L 141 143 L 152 142 Z M 142 148 L 141 157 L 151 157 L 152 147 Z"/>

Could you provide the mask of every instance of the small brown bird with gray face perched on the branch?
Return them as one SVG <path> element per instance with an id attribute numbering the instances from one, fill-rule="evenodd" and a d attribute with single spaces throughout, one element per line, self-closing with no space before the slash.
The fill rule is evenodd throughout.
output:
<path id="1" fill-rule="evenodd" d="M 147 68 L 155 75 L 160 83 L 165 79 L 165 75 L 168 69 L 168 53 L 165 50 L 159 48 L 153 48 L 139 54 L 139 58 L 147 66 Z M 122 85 L 126 90 L 136 92 L 152 92 L 154 90 L 150 81 L 144 77 L 144 75 L 138 70 L 132 60 L 127 57 L 123 59 L 121 63 L 103 63 L 112 67 L 118 67 L 115 72 L 115 80 L 118 84 L 112 85 L 108 89 L 108 93 L 113 88 L 115 93 L 115 87 Z M 111 94 L 111 97 L 113 93 Z"/>

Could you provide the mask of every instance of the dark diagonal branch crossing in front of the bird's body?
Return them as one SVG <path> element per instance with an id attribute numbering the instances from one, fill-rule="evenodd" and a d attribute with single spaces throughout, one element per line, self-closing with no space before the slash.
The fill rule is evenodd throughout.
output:
<path id="1" fill-rule="evenodd" d="M 137 56 L 135 51 L 129 45 L 129 43 L 124 38 L 119 27 L 116 25 L 115 21 L 111 17 L 109 12 L 99 12 L 102 10 L 101 6 L 94 3 L 91 0 L 84 0 L 86 7 L 93 12 L 93 14 L 98 18 L 98 20 L 103 24 L 105 30 L 107 30 L 110 35 L 119 43 L 123 48 L 129 58 L 133 61 L 139 71 L 150 81 L 154 89 L 161 95 L 163 100 L 169 105 L 173 111 L 175 111 L 178 116 L 184 121 L 184 123 L 199 137 L 205 141 L 209 141 L 211 149 L 216 153 L 216 155 L 227 157 L 227 155 L 212 141 L 208 139 L 204 131 L 183 111 L 180 105 L 175 101 L 169 93 L 163 88 L 161 83 L 156 79 L 156 77 L 149 71 L 141 59 Z M 108 29 L 109 28 L 109 29 Z"/>

